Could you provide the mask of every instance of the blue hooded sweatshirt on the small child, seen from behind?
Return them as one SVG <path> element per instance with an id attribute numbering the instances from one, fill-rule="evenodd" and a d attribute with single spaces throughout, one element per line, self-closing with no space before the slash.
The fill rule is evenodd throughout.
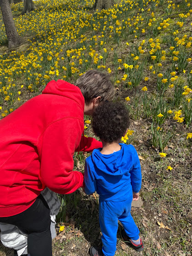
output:
<path id="1" fill-rule="evenodd" d="M 99 194 L 100 200 L 112 201 L 127 198 L 141 189 L 141 166 L 133 145 L 119 144 L 121 149 L 102 155 L 101 148 L 94 149 L 85 160 L 85 193 Z"/>

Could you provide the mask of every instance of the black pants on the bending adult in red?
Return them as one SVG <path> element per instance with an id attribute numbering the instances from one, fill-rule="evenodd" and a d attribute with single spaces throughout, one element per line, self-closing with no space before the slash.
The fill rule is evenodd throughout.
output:
<path id="1" fill-rule="evenodd" d="M 0 218 L 0 222 L 16 225 L 27 233 L 27 251 L 31 256 L 52 256 L 50 210 L 42 195 L 26 211 Z"/>

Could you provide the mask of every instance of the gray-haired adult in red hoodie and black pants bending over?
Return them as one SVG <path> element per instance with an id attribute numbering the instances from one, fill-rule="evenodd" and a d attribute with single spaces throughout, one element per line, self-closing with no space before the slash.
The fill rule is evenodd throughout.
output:
<path id="1" fill-rule="evenodd" d="M 113 85 L 97 70 L 75 85 L 52 80 L 41 95 L 0 121 L 0 222 L 28 234 L 31 256 L 52 256 L 49 208 L 40 192 L 48 187 L 69 194 L 82 187 L 84 176 L 73 171 L 73 154 L 102 147 L 82 136 L 84 114 L 111 101 Z"/>

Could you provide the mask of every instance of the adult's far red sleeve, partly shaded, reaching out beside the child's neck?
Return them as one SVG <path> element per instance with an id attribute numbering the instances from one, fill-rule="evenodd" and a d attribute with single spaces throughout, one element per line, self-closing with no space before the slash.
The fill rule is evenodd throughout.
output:
<path id="1" fill-rule="evenodd" d="M 91 137 L 81 136 L 80 144 L 76 151 L 91 152 L 93 149 L 102 148 L 102 142 Z"/>

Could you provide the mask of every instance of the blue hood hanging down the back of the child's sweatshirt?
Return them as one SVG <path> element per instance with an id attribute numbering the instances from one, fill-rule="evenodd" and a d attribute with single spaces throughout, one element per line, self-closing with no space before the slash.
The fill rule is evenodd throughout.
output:
<path id="1" fill-rule="evenodd" d="M 133 167 L 132 145 L 120 144 L 121 150 L 110 155 L 102 155 L 100 149 L 94 149 L 91 155 L 96 169 L 113 176 L 123 175 Z"/>

